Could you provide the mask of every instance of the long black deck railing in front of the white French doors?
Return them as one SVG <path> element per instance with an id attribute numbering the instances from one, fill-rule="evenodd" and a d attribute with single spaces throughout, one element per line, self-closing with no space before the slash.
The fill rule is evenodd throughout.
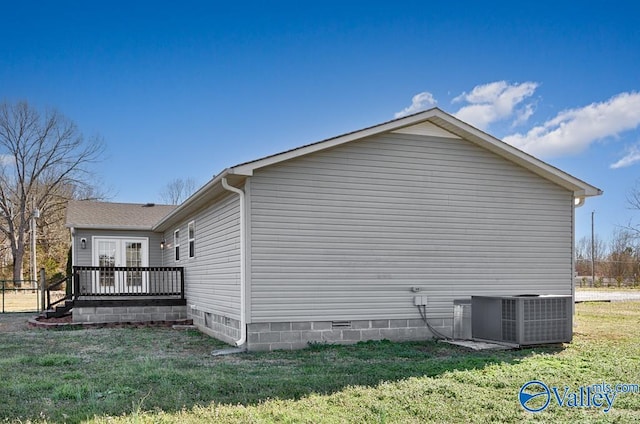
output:
<path id="1" fill-rule="evenodd" d="M 182 267 L 75 266 L 75 299 L 85 296 L 179 297 L 184 299 Z"/>

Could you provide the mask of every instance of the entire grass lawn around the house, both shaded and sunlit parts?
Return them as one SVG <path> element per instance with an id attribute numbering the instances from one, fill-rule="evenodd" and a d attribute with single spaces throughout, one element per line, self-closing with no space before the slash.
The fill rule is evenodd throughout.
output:
<path id="1" fill-rule="evenodd" d="M 222 344 L 191 330 L 0 333 L 0 421 L 640 422 L 640 394 L 608 413 L 520 406 L 534 379 L 640 384 L 640 302 L 576 310 L 571 344 L 482 353 L 383 341 L 213 357 Z"/>

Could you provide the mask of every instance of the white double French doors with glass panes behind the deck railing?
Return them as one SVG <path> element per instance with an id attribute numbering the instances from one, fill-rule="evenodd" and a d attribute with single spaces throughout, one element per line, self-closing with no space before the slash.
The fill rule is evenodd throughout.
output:
<path id="1" fill-rule="evenodd" d="M 100 270 L 94 292 L 105 294 L 144 294 L 149 291 L 148 273 L 135 268 L 149 266 L 149 240 L 146 238 L 94 237 L 93 265 L 127 267 L 128 270 Z"/>

